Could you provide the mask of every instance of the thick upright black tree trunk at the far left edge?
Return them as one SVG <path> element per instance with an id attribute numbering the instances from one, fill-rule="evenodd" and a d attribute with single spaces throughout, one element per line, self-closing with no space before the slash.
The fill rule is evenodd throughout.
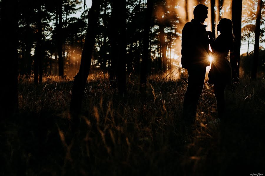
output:
<path id="1" fill-rule="evenodd" d="M 18 1 L 1 1 L 0 59 L 2 80 L 0 90 L 1 121 L 14 116 L 18 110 Z"/>

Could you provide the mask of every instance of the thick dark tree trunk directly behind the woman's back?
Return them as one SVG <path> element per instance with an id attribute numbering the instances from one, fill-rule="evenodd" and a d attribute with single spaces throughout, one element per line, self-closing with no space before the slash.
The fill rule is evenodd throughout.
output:
<path id="1" fill-rule="evenodd" d="M 234 50 L 230 55 L 230 63 L 232 67 L 233 82 L 239 78 L 239 63 L 240 63 L 240 46 L 241 46 L 241 14 L 242 14 L 242 0 L 232 1 L 232 22 L 233 32 L 236 38 Z"/>

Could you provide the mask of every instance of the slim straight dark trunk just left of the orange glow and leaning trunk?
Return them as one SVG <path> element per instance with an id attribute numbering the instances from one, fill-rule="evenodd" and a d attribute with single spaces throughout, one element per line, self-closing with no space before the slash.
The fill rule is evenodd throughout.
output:
<path id="1" fill-rule="evenodd" d="M 63 41 L 62 41 L 62 0 L 58 0 L 57 4 L 57 15 L 59 17 L 58 28 L 56 27 L 57 33 L 57 50 L 58 50 L 58 69 L 59 69 L 59 76 L 64 76 L 64 61 L 63 61 Z"/>

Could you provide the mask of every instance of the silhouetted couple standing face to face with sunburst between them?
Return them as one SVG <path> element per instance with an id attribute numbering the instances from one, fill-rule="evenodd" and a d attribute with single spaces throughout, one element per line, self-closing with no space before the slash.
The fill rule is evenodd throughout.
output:
<path id="1" fill-rule="evenodd" d="M 208 17 L 208 7 L 198 4 L 193 15 L 194 19 L 186 23 L 182 30 L 181 64 L 182 68 L 188 70 L 188 87 L 183 103 L 183 120 L 187 126 L 194 123 L 198 100 L 203 91 L 206 67 L 211 63 L 210 57 L 212 57 L 212 63 L 208 83 L 214 85 L 217 121 L 223 119 L 225 88 L 232 82 L 231 65 L 227 59 L 228 52 L 233 50 L 234 43 L 231 20 L 226 18 L 220 20 L 217 30 L 221 34 L 215 39 L 215 35 L 211 31 L 206 31 L 207 26 L 203 25 Z"/>

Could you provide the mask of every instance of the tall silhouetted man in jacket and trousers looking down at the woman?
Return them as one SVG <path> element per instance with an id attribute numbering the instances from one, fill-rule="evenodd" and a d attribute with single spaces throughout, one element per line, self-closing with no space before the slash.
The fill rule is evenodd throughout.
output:
<path id="1" fill-rule="evenodd" d="M 209 38 L 206 25 L 208 7 L 198 4 L 194 11 L 194 19 L 185 24 L 182 30 L 181 64 L 188 70 L 188 87 L 184 95 L 183 116 L 189 124 L 196 116 L 197 104 L 203 90 L 206 66 L 210 65 Z"/>

